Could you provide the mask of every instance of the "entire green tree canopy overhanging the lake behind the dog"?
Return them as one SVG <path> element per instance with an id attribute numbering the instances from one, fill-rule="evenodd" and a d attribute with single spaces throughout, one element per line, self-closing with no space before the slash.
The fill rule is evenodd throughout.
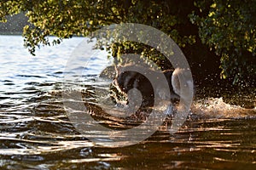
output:
<path id="1" fill-rule="evenodd" d="M 153 26 L 172 37 L 189 58 L 192 71 L 193 67 L 200 71 L 200 65 L 211 67 L 216 61 L 217 68 L 213 64 L 210 71 L 219 66 L 221 77 L 234 83 L 256 74 L 255 0 L 14 0 L 1 1 L 0 9 L 1 21 L 21 12 L 29 18 L 31 25 L 24 27 L 23 36 L 32 54 L 41 45 L 129 22 Z M 58 38 L 49 42 L 49 36 Z M 135 47 L 131 44 L 113 45 L 113 55 L 131 50 Z M 145 55 L 145 50 L 139 52 Z"/>

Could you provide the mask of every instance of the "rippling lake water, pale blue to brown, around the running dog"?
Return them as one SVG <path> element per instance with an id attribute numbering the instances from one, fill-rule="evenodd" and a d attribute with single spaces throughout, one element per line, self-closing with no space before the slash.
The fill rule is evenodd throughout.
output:
<path id="1" fill-rule="evenodd" d="M 148 139 L 126 147 L 106 148 L 85 138 L 68 119 L 61 97 L 63 74 L 75 77 L 76 71 L 84 70 L 74 66 L 73 72 L 65 72 L 82 40 L 74 37 L 40 48 L 32 57 L 23 48 L 22 37 L 0 36 L 1 169 L 256 168 L 255 88 L 225 99 L 216 96 L 229 94 L 229 89 L 210 87 L 210 98 L 205 95 L 209 88 L 198 88 L 191 113 L 175 134 L 169 133 L 166 122 Z M 96 84 L 96 79 L 108 65 L 107 54 L 94 55 L 84 80 L 72 82 L 83 84 L 84 102 L 92 104 L 90 89 L 106 90 L 107 82 Z M 91 110 L 102 124 L 125 127 L 94 107 Z"/>

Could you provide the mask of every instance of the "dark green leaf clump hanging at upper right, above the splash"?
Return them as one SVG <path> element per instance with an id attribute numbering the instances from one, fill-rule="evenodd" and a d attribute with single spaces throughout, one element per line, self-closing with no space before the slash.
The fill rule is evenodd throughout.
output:
<path id="1" fill-rule="evenodd" d="M 256 74 L 256 1 L 212 0 L 195 3 L 201 13 L 190 14 L 203 43 L 221 56 L 222 77 Z M 255 78 L 255 77 L 254 77 Z"/>

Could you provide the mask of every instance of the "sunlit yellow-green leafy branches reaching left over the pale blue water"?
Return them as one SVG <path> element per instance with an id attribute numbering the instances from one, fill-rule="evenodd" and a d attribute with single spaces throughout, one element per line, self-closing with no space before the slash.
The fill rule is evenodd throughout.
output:
<path id="1" fill-rule="evenodd" d="M 167 2 L 167 1 L 166 1 Z M 102 26 L 133 22 L 160 28 L 181 47 L 192 43 L 193 37 L 180 36 L 175 29 L 182 20 L 170 14 L 172 3 L 165 1 L 103 1 L 103 0 L 15 0 L 1 2 L 1 20 L 7 14 L 26 12 L 33 26 L 24 28 L 25 45 L 34 54 L 35 46 L 49 45 L 48 36 L 60 38 L 87 36 Z M 174 5 L 173 5 L 174 7 Z M 177 11 L 177 9 L 175 9 Z M 172 13 L 175 13 L 173 10 Z M 58 43 L 55 41 L 54 43 Z"/>

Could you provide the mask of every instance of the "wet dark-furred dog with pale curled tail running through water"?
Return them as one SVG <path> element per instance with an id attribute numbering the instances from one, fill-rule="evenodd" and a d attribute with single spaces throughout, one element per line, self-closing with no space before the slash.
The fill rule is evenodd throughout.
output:
<path id="1" fill-rule="evenodd" d="M 153 71 L 135 65 L 119 66 L 116 68 L 116 77 L 112 83 L 113 99 L 122 100 L 120 96 L 125 96 L 123 99 L 127 100 L 128 105 L 138 104 L 142 107 L 153 106 L 155 99 L 171 99 L 174 102 L 179 99 L 177 72 L 173 74 L 171 70 Z M 167 82 L 167 87 L 158 79 L 160 75 L 166 78 L 164 81 Z M 152 77 L 153 81 L 150 82 L 148 77 Z M 171 96 L 168 97 L 167 94 Z"/>

